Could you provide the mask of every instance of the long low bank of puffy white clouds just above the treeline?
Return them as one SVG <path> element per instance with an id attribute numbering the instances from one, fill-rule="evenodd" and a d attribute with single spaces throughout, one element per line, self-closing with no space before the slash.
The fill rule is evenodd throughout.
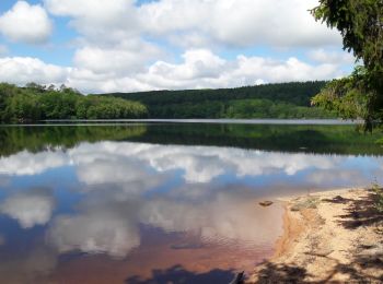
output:
<path id="1" fill-rule="evenodd" d="M 148 68 L 158 50 L 143 46 L 142 57 L 131 50 L 84 47 L 74 68 L 48 64 L 37 58 L 0 58 L 0 81 L 15 84 L 61 84 L 82 92 L 236 87 L 274 82 L 329 80 L 345 75 L 341 61 L 310 64 L 297 58 L 275 60 L 237 56 L 227 60 L 209 49 L 190 49 L 183 62 L 159 60 Z M 138 52 L 138 51 L 137 51 Z"/>

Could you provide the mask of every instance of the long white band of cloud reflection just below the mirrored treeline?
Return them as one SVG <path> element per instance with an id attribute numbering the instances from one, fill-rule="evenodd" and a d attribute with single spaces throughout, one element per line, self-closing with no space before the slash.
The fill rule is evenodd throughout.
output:
<path id="1" fill-rule="evenodd" d="M 374 170 L 374 167 L 380 168 L 383 164 L 381 157 L 363 159 L 341 155 L 291 154 L 216 146 L 101 142 L 82 143 L 67 152 L 59 149 L 37 154 L 21 152 L 0 158 L 0 171 L 11 176 L 35 175 L 50 168 L 71 165 L 76 168 L 79 180 L 86 185 L 136 182 L 135 187 L 140 191 L 158 185 L 150 182 L 154 173 L 177 170 L 182 173 L 186 182 L 207 184 L 224 175 L 242 178 L 295 176 L 306 170 L 334 173 L 338 169 L 348 170 L 349 165 L 355 168 L 352 163 L 369 161 L 375 161 L 369 164 L 371 170 Z M 146 185 L 140 186 L 139 181 Z"/>

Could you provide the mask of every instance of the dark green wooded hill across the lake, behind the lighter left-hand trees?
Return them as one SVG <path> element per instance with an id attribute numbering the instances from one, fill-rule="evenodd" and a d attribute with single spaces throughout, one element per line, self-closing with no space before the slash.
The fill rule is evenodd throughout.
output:
<path id="1" fill-rule="evenodd" d="M 325 81 L 265 84 L 236 88 L 112 93 L 142 103 L 150 118 L 330 118 L 311 107 Z"/>

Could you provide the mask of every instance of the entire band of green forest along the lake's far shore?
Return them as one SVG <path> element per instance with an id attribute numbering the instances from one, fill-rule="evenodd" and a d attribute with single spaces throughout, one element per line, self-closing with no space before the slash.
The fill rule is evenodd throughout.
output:
<path id="1" fill-rule="evenodd" d="M 311 106 L 326 82 L 282 83 L 221 90 L 82 95 L 62 85 L 0 84 L 0 121 L 136 118 L 332 118 Z"/>

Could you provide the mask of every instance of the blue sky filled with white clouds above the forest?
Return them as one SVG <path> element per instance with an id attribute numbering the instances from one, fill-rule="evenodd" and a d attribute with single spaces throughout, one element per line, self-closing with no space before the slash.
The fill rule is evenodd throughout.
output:
<path id="1" fill-rule="evenodd" d="M 218 88 L 347 75 L 317 0 L 0 1 L 0 81 L 83 93 Z"/>

